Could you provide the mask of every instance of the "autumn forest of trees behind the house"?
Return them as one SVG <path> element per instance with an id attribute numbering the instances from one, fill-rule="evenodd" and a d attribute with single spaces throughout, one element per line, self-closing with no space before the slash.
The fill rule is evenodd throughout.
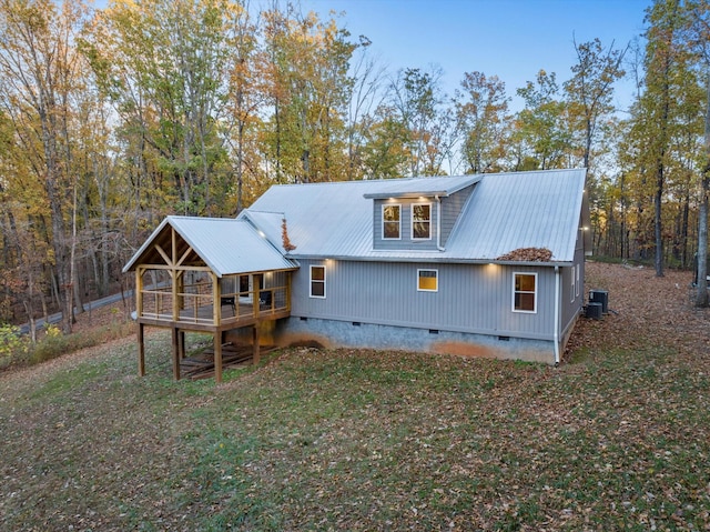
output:
<path id="1" fill-rule="evenodd" d="M 709 0 L 645 20 L 643 40 L 575 41 L 562 79 L 510 92 L 471 70 L 452 94 L 293 4 L 0 0 L 0 323 L 61 311 L 71 332 L 84 300 L 131 288 L 121 268 L 165 215 L 234 217 L 276 183 L 586 167 L 596 255 L 692 268 Z"/>

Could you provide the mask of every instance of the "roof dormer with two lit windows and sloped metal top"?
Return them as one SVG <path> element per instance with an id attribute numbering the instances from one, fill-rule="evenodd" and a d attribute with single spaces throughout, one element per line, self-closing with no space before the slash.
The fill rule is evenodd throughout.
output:
<path id="1" fill-rule="evenodd" d="M 373 249 L 444 251 L 480 175 L 397 180 L 373 200 Z"/>

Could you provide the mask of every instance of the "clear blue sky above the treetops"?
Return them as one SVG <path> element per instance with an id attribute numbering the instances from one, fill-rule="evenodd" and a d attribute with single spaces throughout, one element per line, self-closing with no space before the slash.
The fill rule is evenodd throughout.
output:
<path id="1" fill-rule="evenodd" d="M 372 52 L 396 72 L 402 68 L 444 70 L 453 94 L 464 72 L 498 76 L 514 97 L 545 69 L 561 84 L 575 63 L 574 40 L 626 44 L 643 32 L 651 0 L 301 0 L 322 18 L 345 12 L 339 26 L 367 36 Z M 619 84 L 617 107 L 631 101 L 632 83 Z M 519 100 L 514 101 L 514 106 Z"/>

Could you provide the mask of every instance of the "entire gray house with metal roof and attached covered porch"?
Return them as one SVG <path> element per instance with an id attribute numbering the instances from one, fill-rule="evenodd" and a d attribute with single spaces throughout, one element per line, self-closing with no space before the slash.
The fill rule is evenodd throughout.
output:
<path id="1" fill-rule="evenodd" d="M 150 325 L 173 329 L 175 364 L 185 330 L 214 334 L 215 365 L 245 337 L 255 354 L 261 339 L 556 364 L 584 304 L 585 175 L 274 185 L 234 220 L 169 217 L 124 268 L 140 363 Z"/>

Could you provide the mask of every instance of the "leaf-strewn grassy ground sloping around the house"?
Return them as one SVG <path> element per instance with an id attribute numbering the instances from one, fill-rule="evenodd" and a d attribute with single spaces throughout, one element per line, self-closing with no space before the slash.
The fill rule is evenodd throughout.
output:
<path id="1" fill-rule="evenodd" d="M 710 313 L 588 264 L 559 368 L 287 350 L 173 382 L 170 337 L 0 375 L 0 530 L 710 530 Z M 202 339 L 190 338 L 196 347 Z"/>

